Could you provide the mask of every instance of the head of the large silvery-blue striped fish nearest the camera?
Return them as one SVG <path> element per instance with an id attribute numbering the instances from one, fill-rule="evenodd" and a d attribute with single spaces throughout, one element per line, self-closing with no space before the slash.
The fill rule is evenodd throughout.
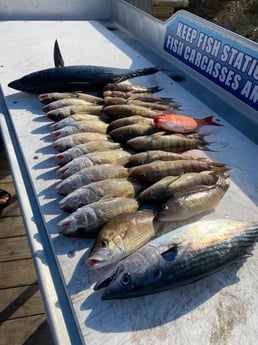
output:
<path id="1" fill-rule="evenodd" d="M 148 253 L 134 252 L 113 266 L 95 284 L 94 290 L 105 288 L 103 300 L 138 297 L 152 293 L 151 286 L 155 285 L 161 276 L 156 254 L 155 249 Z"/>

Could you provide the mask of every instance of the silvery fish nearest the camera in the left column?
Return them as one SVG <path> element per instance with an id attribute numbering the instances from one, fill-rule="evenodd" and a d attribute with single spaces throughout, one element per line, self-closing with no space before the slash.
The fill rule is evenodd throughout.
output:
<path id="1" fill-rule="evenodd" d="M 101 200 L 82 206 L 71 215 L 61 220 L 58 225 L 63 227 L 60 233 L 73 235 L 82 229 L 85 237 L 95 237 L 99 228 L 113 217 L 128 212 L 134 212 L 138 203 L 134 198 L 113 198 Z M 81 232 L 82 233 L 82 232 Z"/>

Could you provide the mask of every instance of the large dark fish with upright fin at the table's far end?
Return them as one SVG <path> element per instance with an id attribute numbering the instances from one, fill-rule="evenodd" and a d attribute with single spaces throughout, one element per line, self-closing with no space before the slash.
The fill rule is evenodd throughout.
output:
<path id="1" fill-rule="evenodd" d="M 104 66 L 64 66 L 57 44 L 54 48 L 55 67 L 23 76 L 8 84 L 9 87 L 31 93 L 54 91 L 96 91 L 108 83 L 149 75 L 159 71 L 157 67 L 123 69 Z"/>

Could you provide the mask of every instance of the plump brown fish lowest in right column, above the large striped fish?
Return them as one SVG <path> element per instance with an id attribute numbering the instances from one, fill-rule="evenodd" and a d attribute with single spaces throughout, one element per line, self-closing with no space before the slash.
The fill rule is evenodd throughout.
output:
<path id="1" fill-rule="evenodd" d="M 219 177 L 210 187 L 172 196 L 162 206 L 156 219 L 159 222 L 181 221 L 210 212 L 217 207 L 228 188 L 226 179 Z"/>

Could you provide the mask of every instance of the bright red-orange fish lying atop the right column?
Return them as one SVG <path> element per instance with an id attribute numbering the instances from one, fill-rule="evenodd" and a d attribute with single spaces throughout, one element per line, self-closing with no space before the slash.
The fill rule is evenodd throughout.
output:
<path id="1" fill-rule="evenodd" d="M 159 128 L 177 133 L 190 133 L 197 131 L 202 126 L 223 126 L 212 120 L 213 116 L 204 119 L 195 119 L 186 115 L 164 114 L 154 117 L 155 125 Z"/>

